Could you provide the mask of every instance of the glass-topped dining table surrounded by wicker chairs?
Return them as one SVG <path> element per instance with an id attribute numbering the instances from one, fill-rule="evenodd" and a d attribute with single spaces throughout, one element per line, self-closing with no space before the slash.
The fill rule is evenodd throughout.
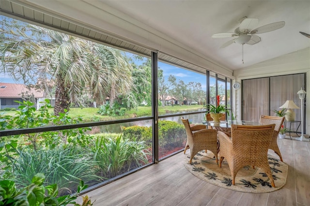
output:
<path id="1" fill-rule="evenodd" d="M 246 121 L 246 120 L 226 120 L 221 122 L 207 121 L 203 122 L 203 124 L 207 125 L 210 129 L 215 129 L 217 131 L 224 132 L 227 136 L 231 135 L 231 125 L 261 125 L 259 122 L 254 121 Z"/>

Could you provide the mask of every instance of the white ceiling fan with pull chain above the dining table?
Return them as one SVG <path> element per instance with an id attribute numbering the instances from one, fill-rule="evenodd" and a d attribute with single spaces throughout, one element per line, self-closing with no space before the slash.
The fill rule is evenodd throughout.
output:
<path id="1" fill-rule="evenodd" d="M 242 62 L 243 62 L 243 45 L 244 44 L 257 44 L 261 42 L 261 37 L 255 34 L 261 34 L 269 31 L 273 31 L 276 29 L 280 29 L 284 27 L 285 22 L 279 21 L 271 24 L 266 24 L 261 27 L 257 27 L 259 19 L 258 18 L 248 18 L 247 16 L 239 19 L 240 26 L 234 29 L 234 33 L 232 32 L 224 32 L 224 33 L 216 33 L 213 34 L 213 38 L 227 38 L 227 37 L 236 37 L 223 45 L 220 48 L 224 48 L 229 46 L 230 44 L 237 43 L 242 44 Z M 244 63 L 244 62 L 243 62 Z"/>

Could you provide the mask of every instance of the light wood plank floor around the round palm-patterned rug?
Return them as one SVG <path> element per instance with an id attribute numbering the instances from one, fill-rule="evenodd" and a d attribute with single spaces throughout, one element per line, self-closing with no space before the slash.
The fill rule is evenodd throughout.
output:
<path id="1" fill-rule="evenodd" d="M 271 193 L 209 184 L 186 170 L 182 152 L 87 195 L 94 206 L 310 206 L 310 142 L 278 138 L 278 144 L 289 171 L 286 185 Z"/>

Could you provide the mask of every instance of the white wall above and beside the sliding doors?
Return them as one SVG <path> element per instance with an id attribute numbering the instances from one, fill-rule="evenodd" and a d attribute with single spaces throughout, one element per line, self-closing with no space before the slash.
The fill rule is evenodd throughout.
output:
<path id="1" fill-rule="evenodd" d="M 306 106 L 306 133 L 310 134 L 310 47 L 299 50 L 279 58 L 270 59 L 259 64 L 250 66 L 245 69 L 236 70 L 234 76 L 235 81 L 240 82 L 242 79 L 251 79 L 268 76 L 279 76 L 285 74 L 307 74 L 308 91 L 307 106 Z M 297 93 L 297 91 L 296 91 Z M 234 102 L 233 107 L 237 108 L 236 117 L 241 117 L 241 89 L 233 91 Z"/>

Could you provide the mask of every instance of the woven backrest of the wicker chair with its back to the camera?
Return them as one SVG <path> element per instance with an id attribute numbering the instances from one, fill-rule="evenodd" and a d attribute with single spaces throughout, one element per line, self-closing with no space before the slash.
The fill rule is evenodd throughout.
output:
<path id="1" fill-rule="evenodd" d="M 235 155 L 255 158 L 267 155 L 275 124 L 269 125 L 231 125 L 232 143 Z"/>

